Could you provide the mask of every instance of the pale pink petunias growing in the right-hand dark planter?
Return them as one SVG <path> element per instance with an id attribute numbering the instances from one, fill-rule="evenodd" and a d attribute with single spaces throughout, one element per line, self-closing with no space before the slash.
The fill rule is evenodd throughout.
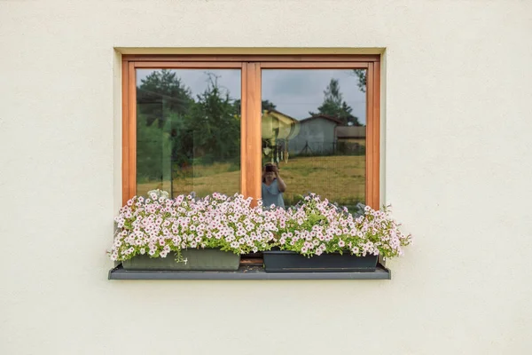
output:
<path id="1" fill-rule="evenodd" d="M 310 193 L 288 210 L 288 218 L 282 218 L 274 245 L 303 256 L 344 252 L 356 256 L 402 255 L 401 247 L 411 244 L 411 235 L 399 230 L 388 210 L 355 207 L 353 215 L 347 207 L 340 208 Z"/>

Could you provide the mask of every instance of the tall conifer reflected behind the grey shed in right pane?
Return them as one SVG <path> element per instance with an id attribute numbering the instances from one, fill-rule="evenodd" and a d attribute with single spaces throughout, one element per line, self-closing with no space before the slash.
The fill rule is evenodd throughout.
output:
<path id="1" fill-rule="evenodd" d="M 348 106 L 340 92 L 340 83 L 337 79 L 331 79 L 331 83 L 324 91 L 324 102 L 317 107 L 317 113 L 309 112 L 310 115 L 326 114 L 340 120 L 345 125 L 360 126 L 358 118 L 351 114 L 353 108 Z"/>

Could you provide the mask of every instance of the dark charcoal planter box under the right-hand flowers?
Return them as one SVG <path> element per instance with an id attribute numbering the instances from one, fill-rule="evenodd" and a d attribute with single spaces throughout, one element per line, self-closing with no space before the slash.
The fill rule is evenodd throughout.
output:
<path id="1" fill-rule="evenodd" d="M 264 251 L 265 272 L 374 272 L 379 256 L 353 256 L 348 252 L 302 256 L 293 251 Z"/>

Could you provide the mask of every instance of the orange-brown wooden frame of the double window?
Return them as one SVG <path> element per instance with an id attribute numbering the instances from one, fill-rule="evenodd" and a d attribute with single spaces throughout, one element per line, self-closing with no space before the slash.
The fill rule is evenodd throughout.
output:
<path id="1" fill-rule="evenodd" d="M 137 190 L 137 68 L 235 68 L 241 70 L 240 192 L 261 197 L 262 69 L 367 69 L 365 201 L 379 209 L 379 55 L 123 55 L 122 203 Z"/>

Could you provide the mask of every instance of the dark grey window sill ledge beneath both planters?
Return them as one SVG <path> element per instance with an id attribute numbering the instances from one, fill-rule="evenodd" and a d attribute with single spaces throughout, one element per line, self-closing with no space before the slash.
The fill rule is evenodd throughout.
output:
<path id="1" fill-rule="evenodd" d="M 109 280 L 391 280 L 382 264 L 374 272 L 264 272 L 262 266 L 241 265 L 236 272 L 127 271 L 120 265 L 109 271 Z"/>

